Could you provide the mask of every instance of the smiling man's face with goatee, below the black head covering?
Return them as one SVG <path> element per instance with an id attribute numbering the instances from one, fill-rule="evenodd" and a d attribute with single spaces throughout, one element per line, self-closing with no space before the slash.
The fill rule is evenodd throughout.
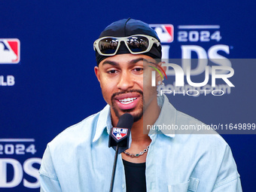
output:
<path id="1" fill-rule="evenodd" d="M 112 116 L 118 119 L 130 113 L 136 122 L 143 115 L 143 107 L 146 110 L 157 98 L 156 88 L 151 87 L 152 69 L 143 59 L 152 60 L 145 55 L 119 54 L 102 60 L 99 67 L 95 67 L 102 95 L 111 106 Z"/>

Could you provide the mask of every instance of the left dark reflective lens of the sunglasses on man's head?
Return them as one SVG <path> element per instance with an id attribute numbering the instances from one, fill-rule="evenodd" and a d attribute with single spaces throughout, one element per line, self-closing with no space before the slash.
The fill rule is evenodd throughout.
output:
<path id="1" fill-rule="evenodd" d="M 112 54 L 117 50 L 117 38 L 103 38 L 99 41 L 99 50 L 103 54 Z"/>

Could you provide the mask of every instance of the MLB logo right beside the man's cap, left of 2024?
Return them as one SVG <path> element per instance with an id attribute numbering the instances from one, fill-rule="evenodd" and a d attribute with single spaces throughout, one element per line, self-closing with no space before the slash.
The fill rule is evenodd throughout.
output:
<path id="1" fill-rule="evenodd" d="M 157 32 L 161 43 L 172 43 L 174 29 L 171 24 L 150 24 L 149 26 Z"/>

